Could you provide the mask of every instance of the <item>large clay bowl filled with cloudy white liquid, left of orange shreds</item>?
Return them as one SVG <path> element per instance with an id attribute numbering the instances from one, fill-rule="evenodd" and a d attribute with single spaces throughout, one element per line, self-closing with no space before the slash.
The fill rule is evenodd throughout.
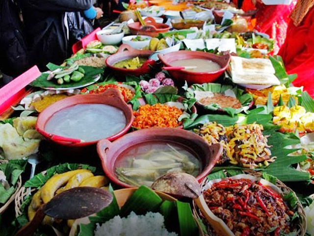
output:
<path id="1" fill-rule="evenodd" d="M 36 130 L 57 146 L 79 149 L 101 139 L 117 139 L 129 130 L 132 121 L 131 106 L 112 88 L 52 104 L 39 114 Z"/>

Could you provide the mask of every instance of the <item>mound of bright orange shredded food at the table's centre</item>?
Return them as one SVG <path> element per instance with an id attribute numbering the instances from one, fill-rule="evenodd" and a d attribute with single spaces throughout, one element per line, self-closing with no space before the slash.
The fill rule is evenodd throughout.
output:
<path id="1" fill-rule="evenodd" d="M 138 111 L 133 112 L 135 119 L 132 126 L 138 129 L 152 127 L 175 128 L 182 124 L 178 118 L 183 114 L 183 110 L 177 107 L 170 107 L 160 103 L 155 105 L 146 104 L 140 106 Z"/>

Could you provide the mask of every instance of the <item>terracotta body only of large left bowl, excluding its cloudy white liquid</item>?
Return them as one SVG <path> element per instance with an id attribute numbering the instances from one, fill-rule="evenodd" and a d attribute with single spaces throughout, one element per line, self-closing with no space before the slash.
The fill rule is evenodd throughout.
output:
<path id="1" fill-rule="evenodd" d="M 77 104 L 106 104 L 116 108 L 119 108 L 123 111 L 126 117 L 126 126 L 119 131 L 118 133 L 107 137 L 108 140 L 113 141 L 120 136 L 124 135 L 133 122 L 133 113 L 131 107 L 124 101 L 121 93 L 118 89 L 107 89 L 103 93 L 99 94 L 80 94 L 71 96 L 65 99 L 62 99 L 48 108 L 46 108 L 42 113 L 39 114 L 36 122 L 36 130 L 42 134 L 46 139 L 57 144 L 57 146 L 63 146 L 66 148 L 84 148 L 96 145 L 98 140 L 90 141 L 90 142 L 83 142 L 79 140 L 71 142 L 71 139 L 67 137 L 59 137 L 53 134 L 49 134 L 45 131 L 45 126 L 48 120 L 58 111 L 77 105 Z"/>

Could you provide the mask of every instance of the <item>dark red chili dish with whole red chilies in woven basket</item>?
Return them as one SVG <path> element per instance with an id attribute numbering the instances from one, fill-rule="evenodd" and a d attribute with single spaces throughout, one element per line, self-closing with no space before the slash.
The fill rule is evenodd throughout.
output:
<path id="1" fill-rule="evenodd" d="M 235 236 L 280 236 L 293 231 L 294 212 L 277 192 L 257 180 L 224 179 L 203 195 L 209 209 Z"/>

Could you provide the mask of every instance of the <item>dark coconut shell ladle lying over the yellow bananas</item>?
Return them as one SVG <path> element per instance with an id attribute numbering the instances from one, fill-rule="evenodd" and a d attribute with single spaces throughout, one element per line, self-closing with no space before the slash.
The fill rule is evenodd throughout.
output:
<path id="1" fill-rule="evenodd" d="M 32 221 L 15 236 L 32 236 L 45 215 L 57 219 L 78 219 L 102 210 L 112 202 L 113 196 L 105 189 L 77 187 L 66 190 L 47 204 L 42 204 Z"/>

